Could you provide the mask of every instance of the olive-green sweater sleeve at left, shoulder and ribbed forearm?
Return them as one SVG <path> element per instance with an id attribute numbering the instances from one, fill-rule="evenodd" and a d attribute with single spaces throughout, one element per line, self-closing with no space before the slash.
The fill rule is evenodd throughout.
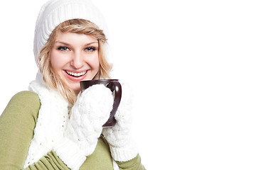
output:
<path id="1" fill-rule="evenodd" d="M 40 107 L 37 94 L 22 91 L 11 98 L 1 114 L 0 167 L 2 170 L 23 168 Z M 68 167 L 55 152 L 49 152 L 28 169 L 68 169 Z"/>

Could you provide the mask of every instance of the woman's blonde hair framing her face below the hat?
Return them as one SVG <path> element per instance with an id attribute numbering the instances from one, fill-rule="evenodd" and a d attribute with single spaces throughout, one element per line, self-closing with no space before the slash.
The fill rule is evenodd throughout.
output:
<path id="1" fill-rule="evenodd" d="M 94 23 L 83 19 L 72 19 L 60 23 L 50 34 L 46 45 L 40 52 L 38 57 L 39 71 L 43 74 L 43 81 L 46 82 L 50 89 L 56 89 L 70 104 L 74 104 L 78 94 L 75 94 L 73 89 L 70 89 L 57 74 L 53 72 L 50 67 L 50 50 L 55 42 L 57 31 L 63 33 L 82 33 L 85 35 L 92 35 L 99 42 L 99 62 L 100 69 L 93 79 L 110 79 L 110 72 L 112 64 L 107 62 L 105 46 L 107 45 L 107 38 L 102 30 L 100 30 Z"/>

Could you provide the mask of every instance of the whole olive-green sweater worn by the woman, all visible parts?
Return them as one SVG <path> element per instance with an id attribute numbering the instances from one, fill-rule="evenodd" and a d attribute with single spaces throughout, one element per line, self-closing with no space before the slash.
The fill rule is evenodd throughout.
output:
<path id="1" fill-rule="evenodd" d="M 22 91 L 16 94 L 0 117 L 0 169 L 23 169 L 28 147 L 33 138 L 38 111 L 41 107 L 36 93 Z M 119 169 L 144 170 L 139 154 L 129 162 L 117 162 Z M 55 152 L 48 152 L 38 162 L 27 169 L 68 169 Z M 110 148 L 100 137 L 95 152 L 87 157 L 80 169 L 113 169 Z"/>

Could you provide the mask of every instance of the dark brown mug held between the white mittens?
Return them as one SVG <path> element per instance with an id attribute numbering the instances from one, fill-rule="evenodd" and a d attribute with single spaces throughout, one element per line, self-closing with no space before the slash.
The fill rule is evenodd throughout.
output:
<path id="1" fill-rule="evenodd" d="M 112 92 L 114 92 L 114 103 L 113 103 L 112 111 L 110 112 L 110 118 L 102 126 L 104 128 L 112 127 L 116 123 L 116 120 L 114 119 L 114 114 L 117 112 L 117 108 L 121 101 L 122 86 L 119 83 L 118 79 L 85 80 L 85 81 L 80 81 L 81 91 L 84 91 L 88 87 L 95 85 L 95 84 L 104 84 L 107 88 L 109 88 Z"/>

